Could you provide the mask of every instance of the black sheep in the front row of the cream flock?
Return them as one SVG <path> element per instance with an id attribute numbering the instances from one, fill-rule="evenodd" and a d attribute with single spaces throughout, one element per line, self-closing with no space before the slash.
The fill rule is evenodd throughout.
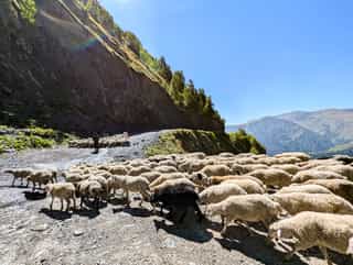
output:
<path id="1" fill-rule="evenodd" d="M 197 206 L 199 199 L 199 195 L 189 188 L 185 188 L 184 190 L 178 190 L 176 192 L 172 189 L 164 189 L 153 194 L 150 202 L 160 203 L 161 211 L 163 211 L 163 208 L 165 208 L 170 210 L 170 216 L 173 216 L 175 211 L 182 212 L 181 218 L 178 220 L 179 223 L 184 221 L 188 209 L 191 208 L 196 212 L 199 222 L 201 222 L 204 216 Z"/>

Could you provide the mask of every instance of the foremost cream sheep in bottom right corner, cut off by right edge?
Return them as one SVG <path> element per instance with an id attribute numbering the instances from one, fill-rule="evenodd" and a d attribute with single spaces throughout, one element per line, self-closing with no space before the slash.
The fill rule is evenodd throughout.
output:
<path id="1" fill-rule="evenodd" d="M 290 256 L 298 251 L 319 246 L 328 265 L 332 265 L 328 251 L 353 254 L 353 217 L 332 213 L 301 212 L 275 222 L 269 238 L 290 246 Z"/>

